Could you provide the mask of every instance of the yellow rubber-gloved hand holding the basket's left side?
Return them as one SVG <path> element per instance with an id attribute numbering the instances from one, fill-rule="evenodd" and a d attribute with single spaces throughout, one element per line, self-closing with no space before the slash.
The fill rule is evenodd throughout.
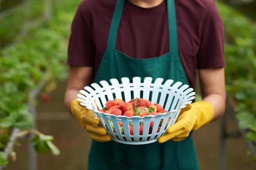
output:
<path id="1" fill-rule="evenodd" d="M 79 120 L 81 126 L 87 130 L 90 137 L 97 142 L 108 142 L 111 140 L 107 130 L 99 125 L 99 119 L 94 116 L 91 110 L 79 105 L 77 99 L 72 101 L 71 112 L 74 118 Z"/>

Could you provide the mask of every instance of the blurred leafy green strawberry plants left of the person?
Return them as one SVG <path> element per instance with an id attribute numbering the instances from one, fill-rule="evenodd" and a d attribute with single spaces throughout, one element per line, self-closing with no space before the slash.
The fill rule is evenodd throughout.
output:
<path id="1" fill-rule="evenodd" d="M 34 122 L 28 106 L 40 81 L 45 81 L 42 91 L 50 93 L 57 80 L 67 78 L 67 41 L 80 0 L 51 2 L 49 20 L 42 17 L 44 0 L 29 0 L 29 13 L 21 4 L 0 17 L 0 149 L 7 146 L 11 131 L 17 128 L 21 132 L 14 137 L 36 134 L 31 143 L 38 153 L 50 150 L 53 155 L 60 154 L 52 143 L 54 137 L 31 129 Z M 0 166 L 7 160 L 0 152 Z"/>

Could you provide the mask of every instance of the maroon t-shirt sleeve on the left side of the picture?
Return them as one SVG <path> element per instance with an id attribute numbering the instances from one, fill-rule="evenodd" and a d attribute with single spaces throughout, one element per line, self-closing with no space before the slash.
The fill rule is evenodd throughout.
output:
<path id="1" fill-rule="evenodd" d="M 67 65 L 93 66 L 95 50 L 92 45 L 90 18 L 90 10 L 85 1 L 82 1 L 72 21 Z"/>

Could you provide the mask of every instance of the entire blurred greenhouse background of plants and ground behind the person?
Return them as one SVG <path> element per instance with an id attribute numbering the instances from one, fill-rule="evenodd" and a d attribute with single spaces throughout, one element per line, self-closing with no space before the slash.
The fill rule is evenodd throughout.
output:
<path id="1" fill-rule="evenodd" d="M 86 169 L 90 137 L 63 103 L 80 2 L 0 0 L 0 170 Z M 225 116 L 193 133 L 200 169 L 255 170 L 256 1 L 216 4 L 228 98 Z"/>

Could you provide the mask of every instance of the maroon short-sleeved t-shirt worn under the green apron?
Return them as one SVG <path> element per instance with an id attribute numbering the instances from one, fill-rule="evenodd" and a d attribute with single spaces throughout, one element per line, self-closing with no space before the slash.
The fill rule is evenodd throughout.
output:
<path id="1" fill-rule="evenodd" d="M 116 2 L 81 2 L 72 23 L 68 65 L 94 66 L 96 75 L 106 50 Z M 178 52 L 189 84 L 195 89 L 196 69 L 225 66 L 222 20 L 213 0 L 175 0 L 175 11 Z M 137 59 L 169 52 L 166 0 L 149 9 L 126 0 L 116 49 Z"/>

